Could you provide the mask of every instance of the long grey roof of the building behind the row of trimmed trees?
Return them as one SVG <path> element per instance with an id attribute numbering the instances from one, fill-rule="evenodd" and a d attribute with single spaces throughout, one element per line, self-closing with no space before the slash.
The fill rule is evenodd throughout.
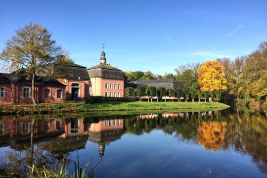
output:
<path id="1" fill-rule="evenodd" d="M 130 82 L 130 84 L 139 85 L 146 85 L 147 87 L 154 86 L 154 87 L 163 87 L 166 89 L 176 89 L 181 88 L 183 89 L 183 84 L 178 82 L 174 79 L 156 79 L 156 80 L 147 80 L 147 81 L 134 81 Z"/>

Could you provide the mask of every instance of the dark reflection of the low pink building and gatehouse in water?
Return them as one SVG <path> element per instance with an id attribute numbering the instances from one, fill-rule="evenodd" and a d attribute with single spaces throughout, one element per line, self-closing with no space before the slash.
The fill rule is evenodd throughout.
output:
<path id="1" fill-rule="evenodd" d="M 14 149 L 22 150 L 31 138 L 35 142 L 42 139 L 37 144 L 48 151 L 75 150 L 85 146 L 88 124 L 84 124 L 81 118 L 0 120 L 0 146 L 10 145 Z"/>

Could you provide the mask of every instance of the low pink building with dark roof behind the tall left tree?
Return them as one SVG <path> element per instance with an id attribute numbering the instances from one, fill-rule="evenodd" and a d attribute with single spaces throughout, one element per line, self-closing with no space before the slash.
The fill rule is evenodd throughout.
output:
<path id="1" fill-rule="evenodd" d="M 45 80 L 36 76 L 35 98 L 37 103 L 65 100 L 66 86 L 56 79 Z M 32 84 L 23 73 L 0 73 L 0 104 L 32 104 Z"/>

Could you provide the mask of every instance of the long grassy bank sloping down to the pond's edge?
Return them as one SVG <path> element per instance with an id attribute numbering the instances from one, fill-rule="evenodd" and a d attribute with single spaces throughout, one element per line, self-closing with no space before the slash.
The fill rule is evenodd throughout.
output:
<path id="1" fill-rule="evenodd" d="M 211 109 L 227 108 L 219 102 L 102 102 L 96 104 L 56 103 L 38 105 L 1 105 L 1 115 L 11 114 L 56 114 L 77 112 L 109 112 L 109 111 L 145 111 L 145 110 L 177 110 L 177 109 Z"/>

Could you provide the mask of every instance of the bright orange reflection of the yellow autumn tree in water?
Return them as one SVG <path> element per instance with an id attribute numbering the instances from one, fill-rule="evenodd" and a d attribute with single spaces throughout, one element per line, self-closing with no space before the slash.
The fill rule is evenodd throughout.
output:
<path id="1" fill-rule="evenodd" d="M 197 142 L 207 150 L 218 150 L 224 144 L 226 122 L 203 122 L 197 128 Z"/>

